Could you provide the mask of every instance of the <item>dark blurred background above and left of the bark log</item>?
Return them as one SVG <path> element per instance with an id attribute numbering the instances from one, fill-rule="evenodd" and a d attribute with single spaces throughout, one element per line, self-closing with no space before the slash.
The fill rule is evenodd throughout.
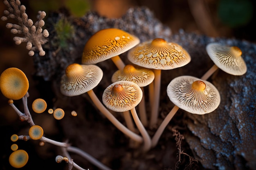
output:
<path id="1" fill-rule="evenodd" d="M 210 37 L 237 38 L 256 42 L 256 1 L 255 0 L 20 0 L 26 7 L 28 17 L 36 21 L 38 11 L 45 11 L 47 14 L 60 8 L 67 8 L 74 17 L 81 17 L 88 11 L 96 11 L 99 15 L 108 18 L 119 18 L 127 9 L 132 6 L 146 6 L 163 24 L 169 26 L 173 34 L 180 29 L 185 32 L 203 34 Z M 0 16 L 6 9 L 3 2 L 0 2 Z M 45 19 L 46 20 L 46 19 Z M 13 20 L 0 20 L 0 73 L 9 67 L 20 68 L 28 77 L 33 79 L 33 61 L 26 50 L 26 43 L 16 45 L 13 42 L 15 35 L 5 27 L 7 22 L 16 23 Z M 29 91 L 32 97 L 29 103 L 38 97 L 39 86 L 36 81 L 30 81 Z M 22 103 L 17 101 L 17 106 L 22 108 Z M 52 118 L 46 119 L 50 124 Z M 39 120 L 38 120 L 39 121 Z M 7 104 L 7 99 L 0 94 L 0 133 L 3 134 L 2 141 L 6 144 L 4 150 L 1 149 L 0 165 L 3 170 L 8 169 L 8 157 L 11 153 L 9 149 L 9 137 L 17 132 L 23 125 L 18 121 L 18 116 Z M 8 131 L 9 133 L 6 133 Z M 49 127 L 49 133 L 56 134 L 58 130 Z M 49 134 L 51 135 L 51 134 Z M 7 142 L 8 141 L 8 142 Z M 1 142 L 2 143 L 2 142 Z M 23 145 L 24 144 L 24 145 Z M 25 142 L 20 141 L 20 145 L 26 148 Z M 49 150 L 48 150 L 49 151 Z M 36 151 L 35 151 L 36 152 Z M 47 151 L 45 151 L 47 152 Z M 33 153 L 32 153 L 33 154 Z M 52 153 L 54 154 L 54 153 Z M 37 159 L 36 153 L 34 158 Z M 42 160 L 44 161 L 44 160 Z M 33 163 L 29 161 L 30 163 Z M 42 162 L 42 166 L 43 162 Z M 65 166 L 65 165 L 64 165 Z M 8 168 L 6 168 L 8 167 Z M 60 168 L 59 165 L 57 165 Z M 53 168 L 53 167 L 52 167 Z M 1 169 L 1 168 L 0 168 Z"/>

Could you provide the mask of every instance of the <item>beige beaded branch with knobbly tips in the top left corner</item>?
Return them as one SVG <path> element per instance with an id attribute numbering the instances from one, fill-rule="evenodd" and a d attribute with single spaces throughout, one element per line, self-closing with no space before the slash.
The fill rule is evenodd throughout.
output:
<path id="1" fill-rule="evenodd" d="M 40 56 L 45 55 L 42 45 L 47 42 L 46 38 L 49 36 L 49 32 L 42 29 L 45 25 L 43 21 L 46 16 L 45 11 L 38 11 L 38 21 L 34 24 L 27 16 L 26 7 L 20 5 L 20 0 L 4 0 L 4 4 L 8 9 L 4 10 L 6 16 L 2 16 L 1 20 L 6 21 L 8 18 L 17 20 L 18 24 L 7 23 L 6 27 L 11 29 L 13 34 L 24 35 L 24 37 L 14 37 L 15 43 L 18 45 L 27 42 L 26 48 L 29 50 L 30 56 L 34 55 L 34 51 L 39 51 Z"/>

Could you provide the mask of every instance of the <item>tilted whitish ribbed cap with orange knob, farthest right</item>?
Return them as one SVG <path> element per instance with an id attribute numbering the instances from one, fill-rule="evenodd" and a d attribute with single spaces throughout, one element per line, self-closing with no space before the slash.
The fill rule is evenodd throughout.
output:
<path id="1" fill-rule="evenodd" d="M 210 43 L 206 46 L 206 51 L 214 64 L 222 71 L 231 75 L 243 75 L 246 73 L 247 66 L 241 57 L 242 51 L 237 46 Z"/>

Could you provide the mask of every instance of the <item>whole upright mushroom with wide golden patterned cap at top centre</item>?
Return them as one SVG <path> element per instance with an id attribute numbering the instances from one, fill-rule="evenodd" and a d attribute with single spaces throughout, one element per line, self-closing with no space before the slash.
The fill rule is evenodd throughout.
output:
<path id="1" fill-rule="evenodd" d="M 161 70 L 171 70 L 188 64 L 191 60 L 189 53 L 182 46 L 156 38 L 137 45 L 128 52 L 128 60 L 133 64 L 154 69 L 154 97 L 151 109 L 150 127 L 157 123 Z M 151 97 L 152 98 L 152 97 Z"/>

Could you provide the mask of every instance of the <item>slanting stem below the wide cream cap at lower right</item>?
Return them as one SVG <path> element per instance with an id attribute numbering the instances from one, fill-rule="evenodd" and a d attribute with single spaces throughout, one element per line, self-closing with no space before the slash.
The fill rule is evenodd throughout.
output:
<path id="1" fill-rule="evenodd" d="M 159 128 L 155 132 L 155 135 L 152 138 L 152 145 L 151 145 L 152 148 L 154 148 L 157 145 L 157 142 L 158 142 L 160 136 L 164 132 L 164 129 L 166 128 L 167 124 L 171 121 L 171 119 L 173 118 L 173 116 L 175 115 L 175 113 L 177 112 L 178 109 L 179 109 L 179 107 L 175 105 L 172 108 L 172 110 L 168 113 L 168 115 L 164 118 L 164 121 L 159 126 Z"/>

